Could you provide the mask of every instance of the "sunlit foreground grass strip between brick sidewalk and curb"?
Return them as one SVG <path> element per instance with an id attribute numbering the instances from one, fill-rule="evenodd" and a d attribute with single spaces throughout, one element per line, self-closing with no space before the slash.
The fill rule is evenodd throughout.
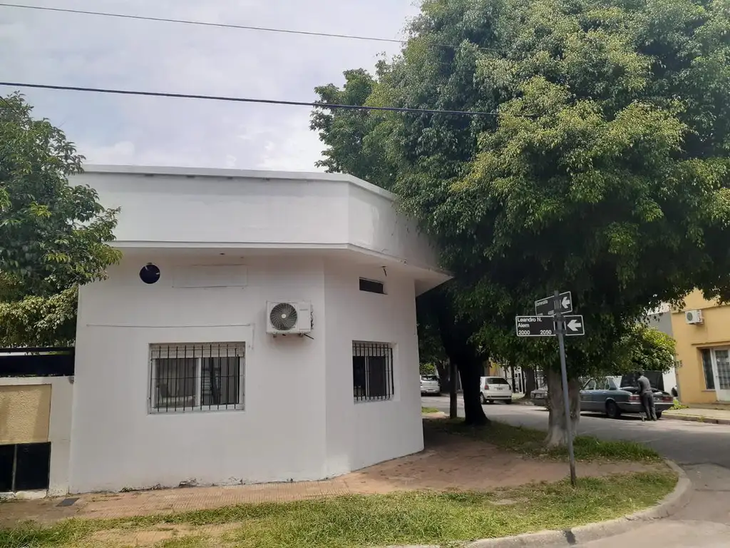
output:
<path id="1" fill-rule="evenodd" d="M 398 492 L 230 506 L 120 520 L 66 520 L 0 530 L 3 548 L 354 548 L 444 544 L 564 529 L 646 508 L 674 473 L 579 479 L 493 492 Z M 641 488 L 637 488 L 640 486 Z M 218 526 L 217 529 L 211 528 Z M 142 544 L 145 532 L 169 538 Z M 177 533 L 177 534 L 175 534 Z"/>

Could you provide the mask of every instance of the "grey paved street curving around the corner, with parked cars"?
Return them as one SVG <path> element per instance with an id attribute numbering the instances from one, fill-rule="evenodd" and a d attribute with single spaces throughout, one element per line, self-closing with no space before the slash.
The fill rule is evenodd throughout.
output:
<path id="1" fill-rule="evenodd" d="M 458 414 L 464 416 L 459 396 Z M 423 397 L 423 406 L 448 412 L 446 396 Z M 548 411 L 534 406 L 495 404 L 484 406 L 491 419 L 545 430 Z M 611 420 L 605 416 L 583 414 L 579 434 L 603 439 L 640 441 L 664 457 L 681 465 L 694 484 L 688 506 L 668 520 L 639 525 L 620 536 L 577 544 L 590 548 L 615 546 L 618 542 L 645 548 L 720 548 L 730 546 L 730 425 L 710 425 L 662 419 L 642 423 L 623 416 Z M 579 465 L 580 467 L 580 465 Z"/>

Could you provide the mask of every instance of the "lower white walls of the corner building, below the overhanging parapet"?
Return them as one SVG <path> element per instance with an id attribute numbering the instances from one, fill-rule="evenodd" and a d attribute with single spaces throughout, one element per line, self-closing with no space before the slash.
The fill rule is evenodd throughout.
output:
<path id="1" fill-rule="evenodd" d="M 209 256 L 210 257 L 210 256 Z M 214 256 L 215 257 L 215 256 Z M 386 295 L 360 292 L 382 268 L 317 256 L 127 256 L 80 290 L 72 492 L 320 479 L 423 448 L 415 289 L 389 273 Z M 146 262 L 161 280 L 139 281 Z M 247 266 L 245 287 L 174 287 L 172 270 Z M 266 335 L 266 300 L 309 300 L 310 338 Z M 395 347 L 396 395 L 353 400 L 352 341 Z M 245 342 L 245 410 L 148 413 L 149 345 Z"/>

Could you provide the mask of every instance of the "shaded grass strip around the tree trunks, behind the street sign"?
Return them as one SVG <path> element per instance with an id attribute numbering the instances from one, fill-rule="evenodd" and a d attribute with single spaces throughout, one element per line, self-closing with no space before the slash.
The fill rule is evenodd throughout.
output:
<path id="1" fill-rule="evenodd" d="M 434 419 L 423 422 L 424 428 L 437 428 L 448 433 L 468 435 L 502 449 L 528 454 L 531 457 L 567 458 L 567 449 L 546 450 L 542 442 L 545 432 L 533 428 L 506 425 L 491 421 L 486 427 L 464 426 L 462 419 Z M 576 460 L 634 460 L 658 462 L 659 454 L 650 447 L 634 441 L 604 441 L 589 435 L 579 435 L 573 444 Z"/>

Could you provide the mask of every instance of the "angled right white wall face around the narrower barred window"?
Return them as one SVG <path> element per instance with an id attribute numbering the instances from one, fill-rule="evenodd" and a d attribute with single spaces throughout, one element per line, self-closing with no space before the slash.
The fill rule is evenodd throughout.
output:
<path id="1" fill-rule="evenodd" d="M 360 277 L 385 283 L 361 292 Z M 412 279 L 341 262 L 325 265 L 328 474 L 364 468 L 423 449 L 418 335 Z M 353 402 L 352 341 L 391 343 L 395 395 Z M 350 390 L 341 387 L 350 387 Z"/>

